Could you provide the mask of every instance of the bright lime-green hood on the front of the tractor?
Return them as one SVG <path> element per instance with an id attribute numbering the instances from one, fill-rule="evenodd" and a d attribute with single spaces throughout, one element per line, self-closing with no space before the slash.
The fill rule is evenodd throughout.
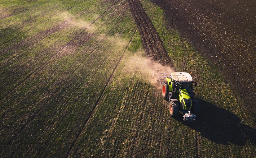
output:
<path id="1" fill-rule="evenodd" d="M 192 100 L 189 96 L 189 93 L 187 93 L 187 90 L 183 87 L 180 88 L 179 101 L 183 109 L 190 109 L 190 107 L 192 106 Z"/>

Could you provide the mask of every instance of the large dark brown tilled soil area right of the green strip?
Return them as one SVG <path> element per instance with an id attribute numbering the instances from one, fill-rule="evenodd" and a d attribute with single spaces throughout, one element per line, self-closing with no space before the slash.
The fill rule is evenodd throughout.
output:
<path id="1" fill-rule="evenodd" d="M 171 27 L 219 67 L 244 112 L 255 115 L 256 2 L 151 1 L 164 9 Z"/>

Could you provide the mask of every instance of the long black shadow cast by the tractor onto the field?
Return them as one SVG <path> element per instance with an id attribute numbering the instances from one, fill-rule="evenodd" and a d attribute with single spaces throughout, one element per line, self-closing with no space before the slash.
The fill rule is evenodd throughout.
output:
<path id="1" fill-rule="evenodd" d="M 197 100 L 201 112 L 196 122 L 184 122 L 182 116 L 175 119 L 218 144 L 245 145 L 247 141 L 251 144 L 256 143 L 256 129 L 243 124 L 238 116 L 228 110 L 202 99 Z"/>

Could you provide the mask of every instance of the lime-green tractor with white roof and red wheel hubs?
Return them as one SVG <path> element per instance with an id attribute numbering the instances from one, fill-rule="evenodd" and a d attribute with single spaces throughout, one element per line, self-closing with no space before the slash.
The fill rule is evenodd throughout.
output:
<path id="1" fill-rule="evenodd" d="M 193 86 L 197 86 L 196 82 L 189 73 L 174 72 L 158 73 L 157 82 L 161 84 L 162 96 L 169 101 L 169 110 L 172 117 L 177 117 L 182 111 L 183 120 L 187 122 L 195 122 L 196 115 L 199 114 L 200 108 L 198 100 L 194 99 Z M 191 113 L 193 112 L 193 113 Z"/>

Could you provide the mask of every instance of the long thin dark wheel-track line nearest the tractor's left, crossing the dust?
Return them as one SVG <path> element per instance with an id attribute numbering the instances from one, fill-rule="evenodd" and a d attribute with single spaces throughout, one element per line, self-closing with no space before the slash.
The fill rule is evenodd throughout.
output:
<path id="1" fill-rule="evenodd" d="M 118 0 L 117 0 L 117 1 L 118 1 Z M 134 33 L 133 33 L 133 35 L 132 35 L 132 37 L 131 37 L 130 41 L 128 42 L 127 46 L 125 47 L 125 50 L 124 50 L 124 52 L 123 52 L 122 56 L 120 57 L 120 59 L 119 59 L 118 63 L 116 64 L 116 66 L 115 66 L 114 70 L 112 71 L 112 74 L 110 75 L 109 79 L 107 80 L 107 83 L 105 84 L 105 86 L 104 86 L 103 90 L 101 91 L 100 96 L 98 97 L 98 99 L 97 99 L 96 103 L 94 104 L 94 106 L 93 106 L 93 108 L 92 108 L 92 111 L 91 111 L 91 112 L 89 112 L 89 116 L 88 116 L 87 120 L 85 120 L 84 125 L 83 125 L 83 127 L 81 128 L 81 130 L 80 130 L 79 134 L 78 134 L 78 135 L 76 135 L 76 139 L 75 139 L 75 141 L 72 143 L 72 145 L 70 146 L 70 149 L 69 149 L 69 151 L 68 151 L 68 152 L 67 152 L 67 154 L 66 154 L 66 157 L 69 157 L 70 152 L 71 152 L 71 150 L 73 149 L 73 147 L 74 147 L 74 145 L 75 145 L 76 141 L 78 140 L 79 136 L 81 135 L 81 133 L 82 133 L 82 131 L 83 131 L 84 127 L 87 125 L 87 122 L 91 119 L 91 116 L 92 116 L 93 111 L 95 110 L 96 106 L 97 106 L 97 105 L 98 105 L 98 103 L 100 102 L 100 99 L 101 99 L 101 97 L 102 97 L 103 93 L 105 92 L 105 90 L 106 90 L 106 88 L 107 88 L 107 85 L 109 85 L 109 82 L 110 82 L 110 80 L 112 79 L 112 76 L 114 75 L 114 73 L 115 73 L 115 71 L 116 71 L 116 68 L 117 68 L 117 67 L 118 67 L 118 65 L 120 64 L 120 61 L 122 60 L 122 58 L 123 58 L 123 56 L 124 56 L 124 54 L 125 54 L 125 52 L 126 52 L 126 50 L 127 50 L 128 46 L 129 46 L 129 44 L 131 43 L 132 38 L 134 37 L 134 34 L 136 33 L 136 31 L 137 31 L 137 29 L 135 29 L 135 31 L 134 31 Z"/>

